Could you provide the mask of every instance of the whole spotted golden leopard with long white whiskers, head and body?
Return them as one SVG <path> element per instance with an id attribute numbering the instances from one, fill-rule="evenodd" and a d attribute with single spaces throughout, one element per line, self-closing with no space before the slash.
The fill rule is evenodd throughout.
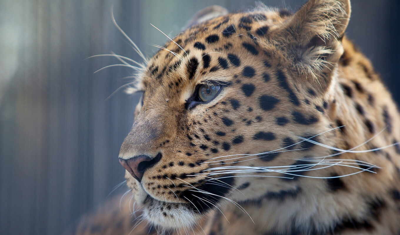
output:
<path id="1" fill-rule="evenodd" d="M 74 234 L 400 234 L 400 116 L 350 14 L 211 6 L 163 33 L 126 90 L 130 197 Z"/>

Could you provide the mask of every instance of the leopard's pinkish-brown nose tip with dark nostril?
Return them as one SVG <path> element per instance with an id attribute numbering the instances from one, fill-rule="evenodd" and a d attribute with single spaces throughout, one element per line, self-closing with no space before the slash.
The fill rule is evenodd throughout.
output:
<path id="1" fill-rule="evenodd" d="M 151 158 L 147 155 L 138 155 L 129 159 L 119 158 L 121 165 L 139 182 L 142 181 L 144 172 L 161 159 L 161 153 Z"/>

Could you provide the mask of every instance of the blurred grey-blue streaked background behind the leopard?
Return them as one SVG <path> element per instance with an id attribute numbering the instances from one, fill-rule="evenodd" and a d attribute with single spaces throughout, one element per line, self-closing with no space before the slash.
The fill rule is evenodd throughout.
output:
<path id="1" fill-rule="evenodd" d="M 306 0 L 264 0 L 296 11 Z M 123 186 L 118 151 L 138 96 L 126 67 L 93 72 L 113 57 L 141 62 L 112 24 L 148 57 L 198 10 L 248 10 L 253 0 L 0 0 L 0 234 L 60 234 Z M 372 60 L 400 101 L 398 0 L 352 0 L 348 37 Z M 109 194 L 111 195 L 109 196 Z"/>

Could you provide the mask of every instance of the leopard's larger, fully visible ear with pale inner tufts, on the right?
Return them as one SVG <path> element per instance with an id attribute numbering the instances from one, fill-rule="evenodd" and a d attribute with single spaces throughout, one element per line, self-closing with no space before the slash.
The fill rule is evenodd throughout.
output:
<path id="1" fill-rule="evenodd" d="M 338 62 L 350 12 L 350 0 L 309 0 L 284 22 L 280 35 L 300 74 L 318 78 Z"/>

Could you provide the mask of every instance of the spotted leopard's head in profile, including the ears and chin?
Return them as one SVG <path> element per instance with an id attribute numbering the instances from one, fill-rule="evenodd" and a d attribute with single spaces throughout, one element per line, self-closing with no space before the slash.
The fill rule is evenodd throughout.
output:
<path id="1" fill-rule="evenodd" d="M 304 139 L 340 138 L 332 94 L 348 2 L 310 1 L 296 14 L 218 14 L 200 14 L 147 62 L 120 150 L 135 201 L 164 228 L 194 225 L 266 192 L 296 193 L 305 175 L 332 175 L 304 170 L 314 163 L 305 159 L 332 153 Z"/>

